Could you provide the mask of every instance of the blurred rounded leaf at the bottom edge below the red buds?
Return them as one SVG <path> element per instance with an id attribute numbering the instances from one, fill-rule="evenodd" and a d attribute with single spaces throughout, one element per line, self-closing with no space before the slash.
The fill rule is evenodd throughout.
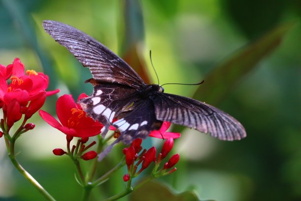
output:
<path id="1" fill-rule="evenodd" d="M 131 201 L 199 201 L 194 191 L 175 193 L 169 187 L 158 181 L 150 181 L 131 195 Z"/>

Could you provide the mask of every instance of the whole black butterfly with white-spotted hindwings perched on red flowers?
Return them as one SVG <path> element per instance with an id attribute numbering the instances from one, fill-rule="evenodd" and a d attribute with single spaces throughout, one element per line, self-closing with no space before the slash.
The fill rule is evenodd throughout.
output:
<path id="1" fill-rule="evenodd" d="M 163 93 L 159 85 L 145 84 L 128 64 L 86 33 L 50 20 L 44 21 L 43 27 L 84 67 L 89 67 L 93 78 L 86 82 L 94 89 L 80 104 L 90 117 L 105 125 L 106 131 L 113 119 L 119 119 L 113 123 L 121 133 L 116 142 L 129 144 L 136 138 L 145 138 L 163 121 L 222 140 L 246 136 L 243 126 L 229 114 L 198 100 Z"/>

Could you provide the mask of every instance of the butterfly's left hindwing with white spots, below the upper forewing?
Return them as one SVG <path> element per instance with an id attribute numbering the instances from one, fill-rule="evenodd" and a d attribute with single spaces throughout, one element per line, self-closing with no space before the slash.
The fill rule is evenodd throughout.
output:
<path id="1" fill-rule="evenodd" d="M 91 118 L 108 129 L 113 119 L 135 102 L 137 90 L 120 84 L 91 83 L 94 85 L 92 95 L 79 100 L 79 103 Z"/>

